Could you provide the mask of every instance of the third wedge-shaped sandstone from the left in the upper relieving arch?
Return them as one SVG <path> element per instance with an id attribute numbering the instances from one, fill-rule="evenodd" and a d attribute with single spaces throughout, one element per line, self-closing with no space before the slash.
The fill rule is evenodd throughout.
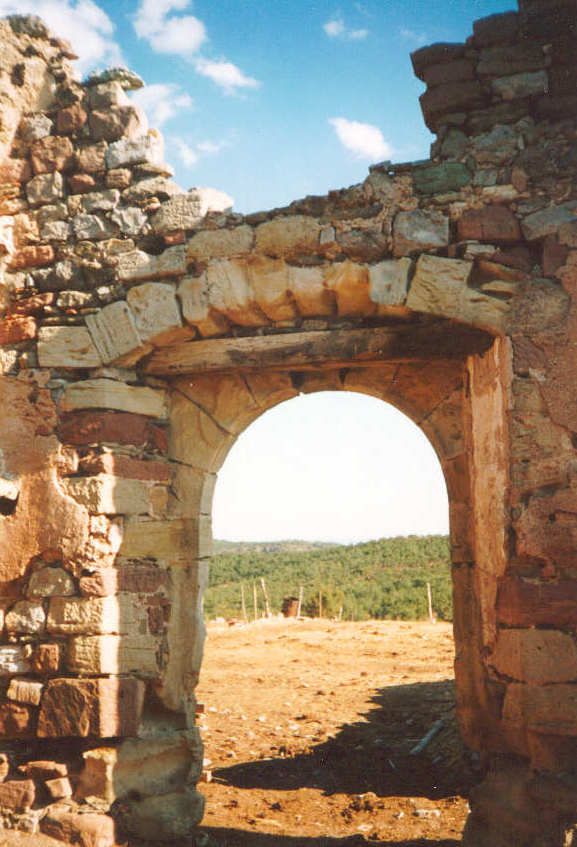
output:
<path id="1" fill-rule="evenodd" d="M 182 319 L 173 285 L 148 282 L 135 285 L 126 295 L 136 330 L 143 341 L 168 344 L 182 334 Z"/>

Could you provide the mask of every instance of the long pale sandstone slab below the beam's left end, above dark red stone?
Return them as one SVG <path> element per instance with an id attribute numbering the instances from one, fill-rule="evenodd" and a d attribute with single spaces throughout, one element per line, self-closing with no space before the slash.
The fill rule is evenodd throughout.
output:
<path id="1" fill-rule="evenodd" d="M 166 418 L 166 397 L 154 388 L 126 385 L 114 379 L 87 379 L 69 383 L 60 401 L 64 412 L 114 409 L 151 418 Z"/>

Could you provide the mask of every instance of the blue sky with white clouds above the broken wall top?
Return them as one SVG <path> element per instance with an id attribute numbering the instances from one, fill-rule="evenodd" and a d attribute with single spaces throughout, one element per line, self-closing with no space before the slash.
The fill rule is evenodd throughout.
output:
<path id="1" fill-rule="evenodd" d="M 237 211 L 361 181 L 428 155 L 409 53 L 460 41 L 514 0 L 0 0 L 70 38 L 87 71 L 123 63 L 184 188 Z M 348 145 L 348 146 L 347 146 Z"/>

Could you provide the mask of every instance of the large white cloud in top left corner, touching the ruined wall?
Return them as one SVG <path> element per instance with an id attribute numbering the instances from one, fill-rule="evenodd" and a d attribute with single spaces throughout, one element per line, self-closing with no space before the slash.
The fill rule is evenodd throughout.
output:
<path id="1" fill-rule="evenodd" d="M 114 24 L 93 0 L 0 0 L 0 16 L 38 15 L 55 35 L 70 41 L 78 70 L 122 64 Z"/>

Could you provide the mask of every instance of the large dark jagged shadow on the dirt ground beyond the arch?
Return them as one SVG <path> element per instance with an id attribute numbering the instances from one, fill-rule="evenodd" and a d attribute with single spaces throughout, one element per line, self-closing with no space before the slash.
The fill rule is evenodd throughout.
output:
<path id="1" fill-rule="evenodd" d="M 468 793 L 474 775 L 456 725 L 452 680 L 382 688 L 371 701 L 375 708 L 365 720 L 343 726 L 335 737 L 304 754 L 292 755 L 287 741 L 274 751 L 275 758 L 219 768 L 213 778 L 238 788 L 315 788 L 325 794 L 370 791 L 380 797 L 440 799 Z M 303 724 L 306 718 L 303 716 Z M 410 755 L 440 720 L 442 729 L 425 751 Z M 287 847 L 299 843 L 286 840 Z M 325 842 L 313 839 L 302 843 L 312 847 Z"/>

